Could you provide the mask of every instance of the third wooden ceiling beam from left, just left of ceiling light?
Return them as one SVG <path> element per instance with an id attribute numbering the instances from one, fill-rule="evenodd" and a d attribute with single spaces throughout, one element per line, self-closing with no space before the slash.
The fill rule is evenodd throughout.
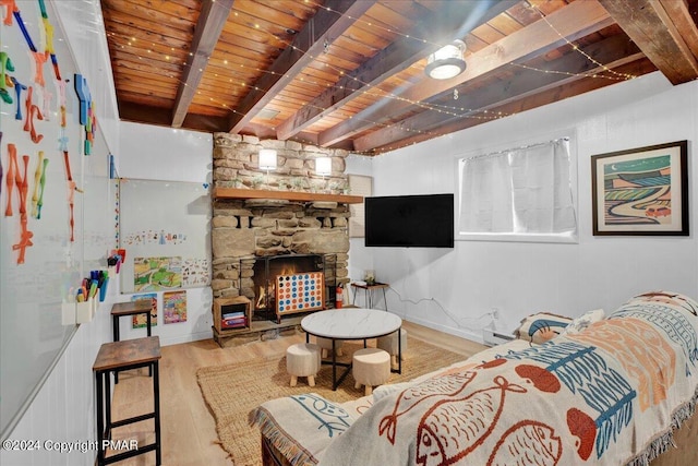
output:
<path id="1" fill-rule="evenodd" d="M 277 139 L 286 140 L 303 131 L 321 118 L 332 113 L 347 103 L 361 96 L 368 88 L 375 87 L 378 83 L 411 67 L 416 61 L 423 59 L 433 52 L 438 45 L 450 43 L 464 37 L 468 31 L 464 31 L 464 24 L 472 23 L 472 15 L 480 14 L 478 24 L 469 24 L 470 28 L 485 23 L 518 0 L 447 3 L 446 8 L 436 13 L 425 9 L 419 24 L 397 40 L 378 51 L 364 64 L 341 77 L 333 87 L 324 91 L 277 128 Z M 482 13 L 484 11 L 484 13 Z M 437 36 L 430 41 L 420 37 Z"/>

